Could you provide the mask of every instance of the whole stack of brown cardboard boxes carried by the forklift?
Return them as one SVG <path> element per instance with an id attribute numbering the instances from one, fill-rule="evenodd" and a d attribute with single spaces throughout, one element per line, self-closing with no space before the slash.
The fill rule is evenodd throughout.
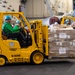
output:
<path id="1" fill-rule="evenodd" d="M 54 28 L 48 30 L 49 54 L 54 57 L 75 57 L 75 30 Z"/>

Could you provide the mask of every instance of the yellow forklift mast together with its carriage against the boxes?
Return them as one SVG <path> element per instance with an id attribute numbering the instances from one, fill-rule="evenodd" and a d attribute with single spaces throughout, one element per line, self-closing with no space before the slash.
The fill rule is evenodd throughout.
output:
<path id="1" fill-rule="evenodd" d="M 43 26 L 41 20 L 30 21 L 30 24 L 37 47 L 48 56 L 48 26 Z"/>

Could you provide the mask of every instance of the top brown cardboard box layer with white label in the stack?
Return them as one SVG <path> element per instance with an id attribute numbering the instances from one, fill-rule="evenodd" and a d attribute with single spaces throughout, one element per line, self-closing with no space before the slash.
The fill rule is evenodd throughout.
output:
<path id="1" fill-rule="evenodd" d="M 48 33 L 48 39 L 49 42 L 54 40 L 74 40 L 75 30 L 56 30 L 56 32 Z"/>

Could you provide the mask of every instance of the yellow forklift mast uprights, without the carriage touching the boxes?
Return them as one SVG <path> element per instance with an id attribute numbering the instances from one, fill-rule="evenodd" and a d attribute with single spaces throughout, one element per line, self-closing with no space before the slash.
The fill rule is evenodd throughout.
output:
<path id="1" fill-rule="evenodd" d="M 30 21 L 32 33 L 34 35 L 35 43 L 39 50 L 43 52 L 43 37 L 42 37 L 42 21 Z"/>

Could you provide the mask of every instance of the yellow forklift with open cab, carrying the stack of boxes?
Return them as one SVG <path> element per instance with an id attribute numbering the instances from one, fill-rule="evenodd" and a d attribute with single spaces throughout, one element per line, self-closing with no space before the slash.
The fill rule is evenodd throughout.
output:
<path id="1" fill-rule="evenodd" d="M 2 25 L 4 17 L 11 15 L 13 18 L 17 18 L 21 21 L 21 27 L 25 31 L 25 26 L 28 28 L 29 36 L 31 37 L 31 44 L 22 48 L 15 39 L 7 39 L 2 35 Z M 31 24 L 31 25 L 30 25 Z M 48 33 L 47 27 L 42 27 L 42 21 L 32 21 L 29 23 L 24 17 L 22 12 L 1 12 L 0 13 L 0 66 L 8 63 L 17 62 L 31 62 L 34 64 L 41 64 L 45 57 L 48 56 L 48 35 L 46 43 L 43 43 L 42 29 L 45 29 L 44 33 Z M 30 40 L 29 40 L 30 41 Z M 46 47 L 44 50 L 43 45 Z"/>

